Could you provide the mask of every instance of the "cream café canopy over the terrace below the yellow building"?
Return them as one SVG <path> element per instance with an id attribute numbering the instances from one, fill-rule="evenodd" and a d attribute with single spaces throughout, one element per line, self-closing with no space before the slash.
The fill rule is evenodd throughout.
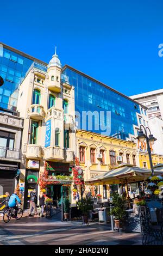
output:
<path id="1" fill-rule="evenodd" d="M 105 174 L 96 176 L 90 180 L 85 181 L 86 185 L 106 185 L 106 184 L 124 184 L 126 182 L 145 181 L 151 176 L 151 170 L 145 168 L 135 167 L 131 164 L 121 164 L 116 168 L 109 170 Z M 163 175 L 162 170 L 154 169 L 155 175 Z"/>

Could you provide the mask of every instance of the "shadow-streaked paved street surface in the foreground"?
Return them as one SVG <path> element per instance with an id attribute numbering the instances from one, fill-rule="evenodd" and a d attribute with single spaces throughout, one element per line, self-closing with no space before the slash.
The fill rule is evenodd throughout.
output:
<path id="1" fill-rule="evenodd" d="M 111 231 L 109 224 L 61 222 L 27 217 L 4 223 L 0 218 L 0 245 L 141 245 L 138 233 Z"/>

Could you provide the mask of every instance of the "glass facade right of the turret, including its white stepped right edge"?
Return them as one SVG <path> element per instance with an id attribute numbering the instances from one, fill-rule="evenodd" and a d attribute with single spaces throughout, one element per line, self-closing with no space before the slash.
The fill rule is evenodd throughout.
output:
<path id="1" fill-rule="evenodd" d="M 146 107 L 71 66 L 62 75 L 75 88 L 78 129 L 136 142 L 140 122 L 148 125 Z"/>

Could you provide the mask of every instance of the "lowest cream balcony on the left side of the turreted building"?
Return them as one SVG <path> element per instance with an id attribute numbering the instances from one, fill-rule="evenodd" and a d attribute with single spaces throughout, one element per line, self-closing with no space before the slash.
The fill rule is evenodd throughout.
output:
<path id="1" fill-rule="evenodd" d="M 40 159 L 42 156 L 42 148 L 40 145 L 29 144 L 27 145 L 26 157 L 27 159 Z"/>

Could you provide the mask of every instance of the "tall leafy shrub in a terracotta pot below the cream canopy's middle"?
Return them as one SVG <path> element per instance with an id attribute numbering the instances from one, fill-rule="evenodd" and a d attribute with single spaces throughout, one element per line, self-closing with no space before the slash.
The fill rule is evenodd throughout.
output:
<path id="1" fill-rule="evenodd" d="M 122 228 L 124 217 L 126 216 L 126 199 L 121 197 L 117 192 L 112 193 L 112 209 L 111 215 L 114 215 L 114 223 L 117 229 Z"/>

